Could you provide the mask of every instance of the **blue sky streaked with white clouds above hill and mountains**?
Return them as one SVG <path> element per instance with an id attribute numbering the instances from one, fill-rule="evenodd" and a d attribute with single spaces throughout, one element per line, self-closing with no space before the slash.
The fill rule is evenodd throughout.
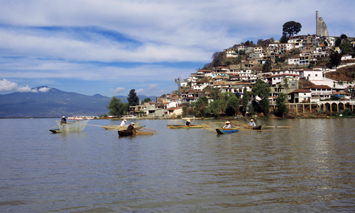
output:
<path id="1" fill-rule="evenodd" d="M 288 21 L 315 34 L 355 37 L 353 0 L 0 0 L 0 94 L 161 96 L 178 88 L 214 52 L 279 40 Z"/>

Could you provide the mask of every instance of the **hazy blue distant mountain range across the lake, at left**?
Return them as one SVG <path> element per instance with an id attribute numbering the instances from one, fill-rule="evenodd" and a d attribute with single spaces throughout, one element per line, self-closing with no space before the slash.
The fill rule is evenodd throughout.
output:
<path id="1" fill-rule="evenodd" d="M 32 88 L 28 93 L 0 95 L 0 117 L 70 117 L 73 115 L 104 115 L 109 112 L 110 97 L 96 94 L 85 96 L 80 93 L 60 91 L 48 86 Z M 127 103 L 128 96 L 116 96 Z M 155 96 L 138 96 L 140 100 Z"/>

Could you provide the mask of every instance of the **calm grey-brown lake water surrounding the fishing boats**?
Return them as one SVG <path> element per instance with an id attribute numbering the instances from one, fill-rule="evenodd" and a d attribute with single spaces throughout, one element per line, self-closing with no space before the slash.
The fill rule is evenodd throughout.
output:
<path id="1" fill-rule="evenodd" d="M 355 212 L 354 119 L 257 120 L 293 128 L 223 135 L 169 122 L 118 137 L 0 120 L 0 212 Z M 89 121 L 107 124 L 119 121 Z"/>

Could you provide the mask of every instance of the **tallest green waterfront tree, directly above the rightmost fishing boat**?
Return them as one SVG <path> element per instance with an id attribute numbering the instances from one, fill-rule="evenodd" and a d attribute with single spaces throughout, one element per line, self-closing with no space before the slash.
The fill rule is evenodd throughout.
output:
<path id="1" fill-rule="evenodd" d="M 259 100 L 260 109 L 264 114 L 268 115 L 268 111 L 270 110 L 270 103 L 268 100 L 271 92 L 270 86 L 261 79 L 258 79 L 251 91 L 253 96 L 261 98 L 261 100 Z"/>

